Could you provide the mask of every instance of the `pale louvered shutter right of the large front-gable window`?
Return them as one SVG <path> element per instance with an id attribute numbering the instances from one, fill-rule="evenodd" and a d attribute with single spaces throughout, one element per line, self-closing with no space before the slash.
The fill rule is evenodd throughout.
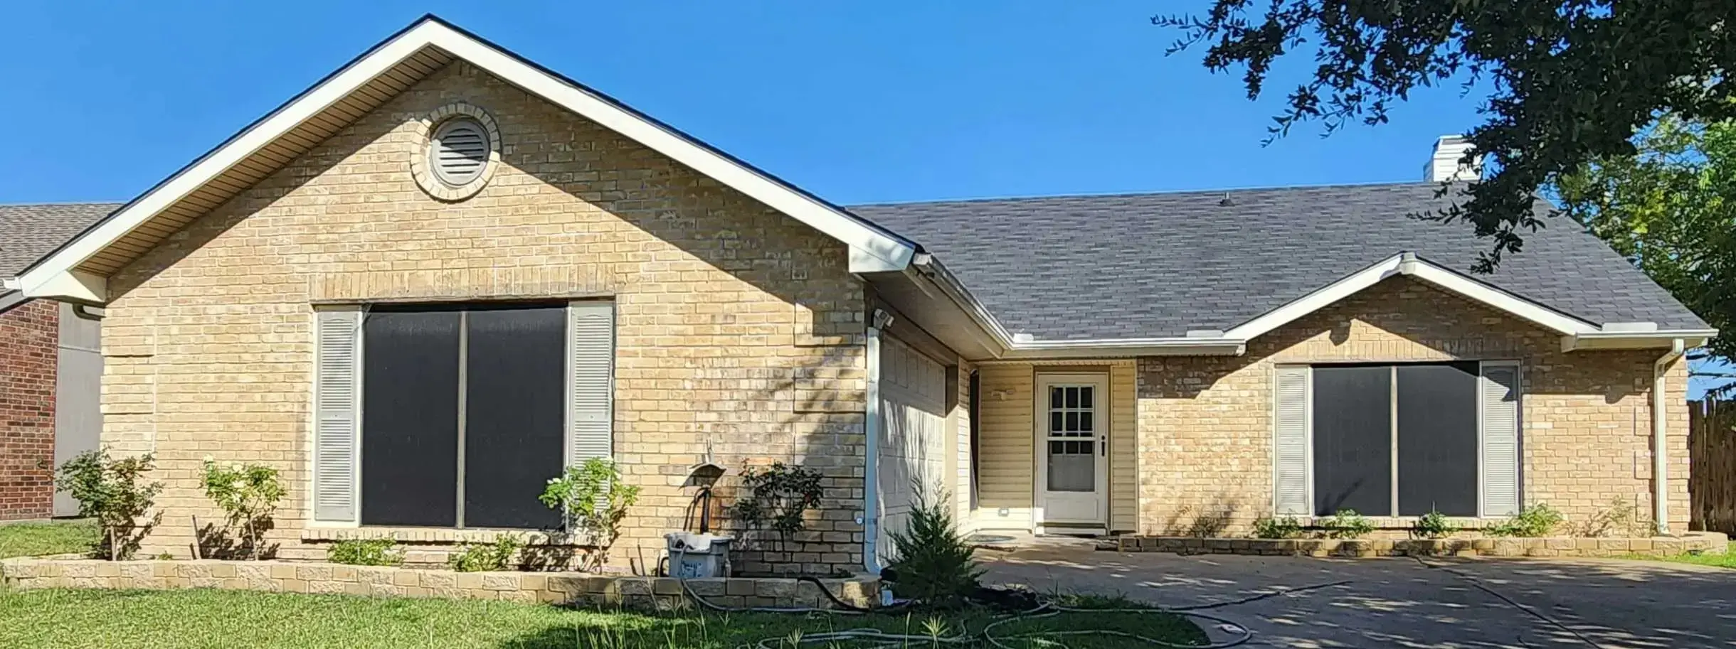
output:
<path id="1" fill-rule="evenodd" d="M 615 451 L 615 302 L 566 307 L 568 465 Z"/>

